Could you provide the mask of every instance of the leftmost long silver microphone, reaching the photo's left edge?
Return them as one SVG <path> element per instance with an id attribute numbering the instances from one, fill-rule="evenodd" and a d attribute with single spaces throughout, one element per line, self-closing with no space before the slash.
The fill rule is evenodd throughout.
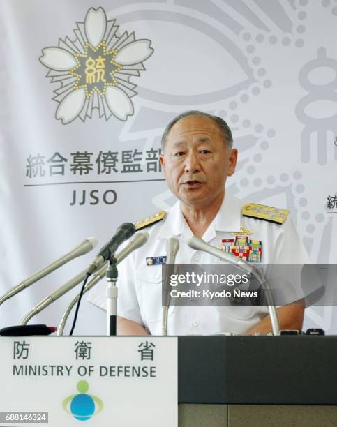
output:
<path id="1" fill-rule="evenodd" d="M 63 257 L 60 257 L 58 260 L 47 265 L 47 267 L 39 271 L 36 271 L 36 273 L 34 273 L 32 276 L 23 280 L 21 283 L 19 283 L 18 285 L 13 287 L 11 290 L 6 292 L 6 294 L 4 294 L 3 297 L 0 297 L 0 306 L 7 299 L 14 297 L 15 294 L 17 294 L 18 292 L 21 292 L 26 287 L 33 285 L 33 283 L 36 283 L 38 280 L 47 276 L 47 274 L 52 273 L 52 271 L 58 269 L 62 265 L 66 264 L 67 262 L 73 260 L 76 257 L 80 257 L 81 255 L 84 255 L 85 253 L 90 252 L 90 250 L 93 249 L 97 245 L 97 243 L 98 243 L 98 240 L 96 239 L 96 237 L 88 237 L 88 239 L 85 239 L 84 241 L 82 241 L 75 248 L 73 248 L 73 250 L 70 250 L 70 252 L 66 253 L 66 255 L 63 255 Z"/>

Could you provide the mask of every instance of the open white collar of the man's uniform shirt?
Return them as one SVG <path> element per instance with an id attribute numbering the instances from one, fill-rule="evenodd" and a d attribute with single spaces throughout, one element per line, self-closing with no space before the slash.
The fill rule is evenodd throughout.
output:
<path id="1" fill-rule="evenodd" d="M 240 231 L 240 219 L 241 219 L 241 207 L 243 202 L 229 191 L 226 190 L 223 203 L 220 206 L 216 218 L 214 218 L 211 225 L 204 234 L 204 237 L 208 237 L 207 240 L 215 237 L 216 231 L 221 232 L 239 232 Z M 176 202 L 172 208 L 167 211 L 168 215 L 163 223 L 158 239 L 169 239 L 172 236 L 180 236 L 186 231 L 188 227 L 184 215 L 181 213 L 180 202 Z"/>

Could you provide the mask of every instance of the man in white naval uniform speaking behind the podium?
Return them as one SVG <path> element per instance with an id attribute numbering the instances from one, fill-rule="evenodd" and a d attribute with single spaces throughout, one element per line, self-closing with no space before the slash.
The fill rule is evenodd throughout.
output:
<path id="1" fill-rule="evenodd" d="M 243 216 L 244 203 L 225 191 L 226 179 L 237 163 L 237 149 L 232 149 L 232 134 L 225 121 L 201 112 L 181 114 L 165 130 L 160 163 L 167 185 L 179 201 L 163 220 L 147 227 L 147 244 L 119 266 L 119 335 L 161 334 L 162 266 L 151 260 L 165 257 L 166 241 L 172 236 L 180 241 L 178 264 L 219 262 L 186 244 L 193 234 L 220 248 L 223 239 L 245 233 L 262 242 L 263 264 L 308 262 L 290 218 L 279 225 Z M 278 308 L 280 329 L 301 329 L 304 300 L 301 292 L 297 296 L 293 304 Z M 103 285 L 91 291 L 89 301 L 105 308 Z M 266 306 L 172 306 L 169 310 L 170 335 L 269 331 Z"/>

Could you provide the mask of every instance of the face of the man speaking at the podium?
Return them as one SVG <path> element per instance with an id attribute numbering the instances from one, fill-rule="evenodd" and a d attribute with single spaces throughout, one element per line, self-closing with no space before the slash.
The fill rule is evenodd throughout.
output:
<path id="1" fill-rule="evenodd" d="M 205 206 L 223 197 L 237 150 L 227 147 L 216 122 L 188 116 L 171 128 L 160 163 L 167 185 L 181 202 Z"/>

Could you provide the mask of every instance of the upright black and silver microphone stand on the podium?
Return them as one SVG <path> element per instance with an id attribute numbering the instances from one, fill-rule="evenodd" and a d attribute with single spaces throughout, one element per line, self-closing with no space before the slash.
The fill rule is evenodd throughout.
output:
<path id="1" fill-rule="evenodd" d="M 107 267 L 107 336 L 117 335 L 117 299 L 118 299 L 117 260 L 112 255 Z"/>

